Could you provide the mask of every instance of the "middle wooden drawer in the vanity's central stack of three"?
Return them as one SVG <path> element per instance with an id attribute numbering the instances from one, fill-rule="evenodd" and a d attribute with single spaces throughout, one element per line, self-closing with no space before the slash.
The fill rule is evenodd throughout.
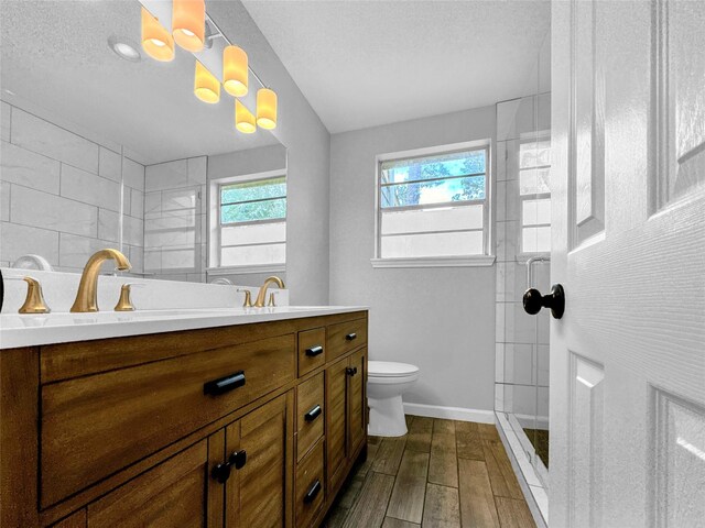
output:
<path id="1" fill-rule="evenodd" d="M 296 387 L 296 460 L 301 460 L 323 436 L 325 403 L 323 372 Z"/>

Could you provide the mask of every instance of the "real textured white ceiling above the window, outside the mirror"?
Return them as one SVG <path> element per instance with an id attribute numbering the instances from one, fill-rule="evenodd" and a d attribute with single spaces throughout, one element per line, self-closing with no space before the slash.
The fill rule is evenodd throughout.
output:
<path id="1" fill-rule="evenodd" d="M 333 133 L 527 95 L 551 20 L 549 0 L 243 4 Z"/>

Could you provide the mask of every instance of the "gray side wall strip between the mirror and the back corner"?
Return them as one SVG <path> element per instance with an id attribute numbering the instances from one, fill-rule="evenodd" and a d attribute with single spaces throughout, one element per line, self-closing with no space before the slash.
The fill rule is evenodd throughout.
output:
<path id="1" fill-rule="evenodd" d="M 210 2 L 208 13 L 248 51 L 279 97 L 273 131 L 288 148 L 286 286 L 292 305 L 328 302 L 330 135 L 239 1 Z M 257 87 L 254 79 L 252 88 Z"/>

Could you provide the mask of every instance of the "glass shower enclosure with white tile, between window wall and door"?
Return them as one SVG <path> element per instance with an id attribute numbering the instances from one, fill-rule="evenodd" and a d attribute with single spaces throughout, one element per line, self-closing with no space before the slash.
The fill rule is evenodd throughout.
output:
<path id="1" fill-rule="evenodd" d="M 549 312 L 529 316 L 528 288 L 551 288 L 550 34 L 525 97 L 497 105 L 495 410 L 534 504 L 547 519 Z"/>

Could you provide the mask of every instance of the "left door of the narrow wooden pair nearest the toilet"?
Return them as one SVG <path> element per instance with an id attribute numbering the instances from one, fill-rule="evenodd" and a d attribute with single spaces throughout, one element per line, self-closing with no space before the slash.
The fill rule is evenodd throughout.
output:
<path id="1" fill-rule="evenodd" d="M 343 359 L 326 369 L 326 444 L 328 490 L 337 491 L 347 461 L 347 367 Z"/>

